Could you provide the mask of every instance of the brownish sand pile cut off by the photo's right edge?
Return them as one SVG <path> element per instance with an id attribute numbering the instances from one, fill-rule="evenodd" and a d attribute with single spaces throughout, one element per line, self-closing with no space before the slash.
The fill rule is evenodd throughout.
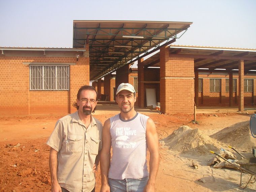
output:
<path id="1" fill-rule="evenodd" d="M 222 143 L 243 150 L 251 150 L 256 146 L 256 138 L 251 135 L 250 121 L 244 121 L 226 127 L 221 131 L 210 136 Z"/>

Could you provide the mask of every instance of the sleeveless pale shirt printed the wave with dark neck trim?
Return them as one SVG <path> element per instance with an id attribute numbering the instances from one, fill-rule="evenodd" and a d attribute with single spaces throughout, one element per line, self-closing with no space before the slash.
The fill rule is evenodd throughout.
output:
<path id="1" fill-rule="evenodd" d="M 149 175 L 146 160 L 148 118 L 139 113 L 129 120 L 121 119 L 120 114 L 110 118 L 113 156 L 108 172 L 109 178 L 139 179 Z"/>

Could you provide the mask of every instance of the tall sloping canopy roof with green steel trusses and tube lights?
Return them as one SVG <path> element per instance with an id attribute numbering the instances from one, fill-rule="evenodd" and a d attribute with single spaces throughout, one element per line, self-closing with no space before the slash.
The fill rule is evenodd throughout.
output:
<path id="1" fill-rule="evenodd" d="M 73 48 L 89 44 L 90 81 L 171 44 L 192 22 L 73 21 Z"/>

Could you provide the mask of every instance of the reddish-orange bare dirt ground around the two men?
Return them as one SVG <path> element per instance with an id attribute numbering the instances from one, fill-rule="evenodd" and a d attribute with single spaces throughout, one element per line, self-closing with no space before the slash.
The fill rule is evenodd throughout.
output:
<path id="1" fill-rule="evenodd" d="M 108 110 L 109 108 L 113 110 Z M 223 136 L 224 134 L 221 132 L 224 128 L 241 127 L 239 123 L 249 121 L 251 114 L 212 111 L 212 113 L 197 114 L 196 120 L 199 124 L 193 124 L 191 122 L 194 118 L 193 115 L 164 115 L 157 113 L 157 111 L 143 109 L 138 111 L 154 120 L 159 135 L 161 159 L 156 180 L 156 192 L 256 190 L 255 183 L 249 184 L 245 190 L 239 188 L 240 171 L 226 168 L 216 169 L 213 166 L 208 166 L 209 160 L 214 157 L 210 151 L 209 153 L 205 153 L 205 151 L 200 153 L 200 151 L 193 151 L 192 149 L 191 151 L 184 151 L 184 147 L 180 148 L 180 151 L 172 150 L 173 146 L 168 145 L 166 140 L 164 141 L 168 135 L 182 125 L 199 129 L 200 134 L 204 135 L 205 138 L 211 135 L 215 135 L 215 139 L 220 138 L 220 135 Z M 118 108 L 116 106 L 102 105 L 101 110 L 97 110 L 94 117 L 104 123 L 106 119 L 117 113 Z M 50 149 L 45 142 L 53 131 L 56 121 L 64 115 L 0 117 L 0 191 L 51 190 L 48 165 Z M 249 132 L 232 135 L 232 132 L 227 130 L 225 134 L 226 137 L 231 134 L 232 137 L 229 137 L 227 141 L 232 143 L 232 147 L 237 148 L 246 157 L 252 156 L 251 147 L 256 143 L 256 139 L 251 139 Z M 241 137 L 245 135 L 249 140 Z M 178 142 L 184 144 L 185 141 L 182 142 L 180 139 Z M 193 138 L 191 142 L 193 142 Z M 225 142 L 225 138 L 224 140 L 222 138 L 220 145 L 227 148 L 229 143 L 223 142 Z M 14 146 L 18 143 L 20 143 L 19 147 L 6 147 L 7 144 Z M 239 158 L 235 152 L 234 154 Z M 191 166 L 192 161 L 198 165 L 197 169 Z M 96 177 L 96 191 L 99 191 L 100 170 L 96 173 Z M 243 183 L 248 178 L 248 174 L 243 174 Z M 204 179 L 205 183 L 198 181 L 199 179 Z"/>

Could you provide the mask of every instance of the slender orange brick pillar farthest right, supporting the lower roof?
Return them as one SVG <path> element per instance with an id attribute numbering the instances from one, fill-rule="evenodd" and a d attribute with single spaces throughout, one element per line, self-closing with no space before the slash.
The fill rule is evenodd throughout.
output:
<path id="1" fill-rule="evenodd" d="M 238 111 L 244 112 L 244 60 L 238 63 L 238 79 L 239 79 L 239 92 L 238 92 Z"/>

